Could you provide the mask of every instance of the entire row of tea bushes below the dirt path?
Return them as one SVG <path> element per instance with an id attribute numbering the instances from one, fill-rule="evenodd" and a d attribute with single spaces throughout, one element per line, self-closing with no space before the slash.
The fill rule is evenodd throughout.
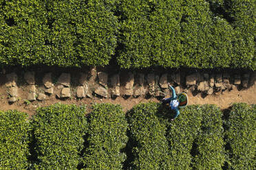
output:
<path id="1" fill-rule="evenodd" d="M 0 112 L 0 169 L 253 169 L 256 105 L 54 104 Z M 22 161 L 21 161 L 22 160 Z"/>

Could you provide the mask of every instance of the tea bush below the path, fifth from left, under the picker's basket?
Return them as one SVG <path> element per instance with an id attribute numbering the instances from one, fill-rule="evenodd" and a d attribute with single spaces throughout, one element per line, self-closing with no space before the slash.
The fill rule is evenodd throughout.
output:
<path id="1" fill-rule="evenodd" d="M 191 169 L 193 141 L 200 132 L 202 121 L 200 106 L 187 106 L 180 110 L 175 121 L 169 121 L 167 139 L 171 154 L 170 169 Z M 193 151 L 192 151 L 193 152 Z M 195 155 L 195 153 L 192 153 Z"/>

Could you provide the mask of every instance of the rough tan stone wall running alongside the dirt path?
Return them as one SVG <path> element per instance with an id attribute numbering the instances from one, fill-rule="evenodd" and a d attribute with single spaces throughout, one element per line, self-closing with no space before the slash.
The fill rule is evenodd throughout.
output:
<path id="1" fill-rule="evenodd" d="M 5 74 L 4 84 L 7 88 L 10 104 L 19 99 L 19 85 L 17 73 Z M 107 73 L 104 71 L 77 72 L 77 83 L 72 82 L 71 73 L 61 73 L 53 80 L 52 73 L 45 73 L 39 77 L 41 84 L 36 84 L 36 73 L 27 71 L 22 79 L 26 88 L 25 97 L 28 101 L 43 101 L 47 97 L 56 99 L 78 99 L 85 97 L 164 97 L 170 94 L 168 82 L 175 88 L 176 93 L 189 91 L 204 93 L 204 95 L 221 95 L 222 92 L 234 88 L 248 88 L 256 83 L 256 72 L 248 73 Z M 23 96 L 24 97 L 24 96 Z"/>

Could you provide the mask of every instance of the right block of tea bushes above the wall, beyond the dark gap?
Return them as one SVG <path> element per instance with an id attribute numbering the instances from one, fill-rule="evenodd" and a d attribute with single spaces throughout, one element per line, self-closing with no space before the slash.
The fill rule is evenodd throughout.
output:
<path id="1" fill-rule="evenodd" d="M 118 63 L 127 69 L 149 66 L 255 69 L 255 3 L 251 0 L 244 5 L 236 1 L 238 9 L 233 3 L 228 7 L 238 24 L 210 10 L 213 8 L 210 4 L 216 3 L 204 0 L 122 3 L 120 42 L 124 49 Z M 236 28 L 243 23 L 248 23 L 250 29 Z"/>

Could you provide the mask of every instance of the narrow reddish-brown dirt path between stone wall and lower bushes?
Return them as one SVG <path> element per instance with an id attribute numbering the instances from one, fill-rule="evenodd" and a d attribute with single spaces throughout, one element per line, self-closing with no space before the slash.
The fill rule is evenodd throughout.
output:
<path id="1" fill-rule="evenodd" d="M 86 104 L 87 106 L 91 106 L 95 103 L 111 103 L 111 104 L 120 104 L 125 111 L 131 109 L 136 104 L 145 103 L 149 101 L 156 101 L 159 102 L 158 99 L 151 97 L 146 99 L 145 97 L 129 97 L 128 99 L 124 99 L 123 97 L 117 97 L 116 99 L 99 99 L 97 97 L 84 98 L 84 99 L 67 99 L 62 101 L 60 99 L 56 99 L 55 96 L 47 98 L 45 101 L 33 101 L 28 102 L 24 100 L 19 100 L 14 104 L 8 104 L 7 95 L 6 95 L 6 88 L 0 88 L 0 110 L 19 110 L 21 112 L 27 112 L 28 114 L 34 114 L 36 108 L 40 106 L 49 106 L 51 104 L 55 104 L 61 102 L 63 104 L 76 104 L 76 105 L 83 105 Z M 25 98 L 25 93 L 23 93 Z M 202 96 L 201 93 L 198 95 L 194 95 L 192 93 L 188 93 L 189 96 L 189 105 L 191 104 L 215 104 L 219 106 L 221 109 L 228 108 L 233 103 L 244 102 L 247 104 L 256 104 L 256 84 L 254 86 L 250 86 L 250 88 L 245 90 L 237 90 L 235 88 L 231 91 L 224 91 L 224 93 L 220 95 L 207 95 L 206 97 Z M 167 96 L 168 97 L 168 96 Z"/>

